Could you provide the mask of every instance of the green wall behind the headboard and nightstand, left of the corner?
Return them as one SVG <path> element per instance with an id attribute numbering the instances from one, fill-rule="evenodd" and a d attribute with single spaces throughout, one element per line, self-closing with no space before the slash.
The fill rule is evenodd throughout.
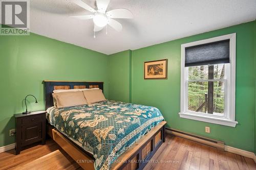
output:
<path id="1" fill-rule="evenodd" d="M 24 98 L 34 94 L 29 110 L 44 109 L 43 80 L 103 81 L 109 96 L 108 56 L 47 37 L 0 36 L 0 147 L 14 143 L 13 114 L 25 111 Z"/>

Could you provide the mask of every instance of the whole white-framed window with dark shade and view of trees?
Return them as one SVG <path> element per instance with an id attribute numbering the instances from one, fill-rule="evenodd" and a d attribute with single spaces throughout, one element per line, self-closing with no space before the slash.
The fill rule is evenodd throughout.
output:
<path id="1" fill-rule="evenodd" d="M 181 45 L 180 117 L 235 127 L 236 34 Z"/>

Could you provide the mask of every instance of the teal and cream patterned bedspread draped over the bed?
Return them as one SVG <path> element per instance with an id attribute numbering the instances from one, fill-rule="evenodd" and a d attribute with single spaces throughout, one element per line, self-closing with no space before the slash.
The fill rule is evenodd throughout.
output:
<path id="1" fill-rule="evenodd" d="M 48 122 L 94 158 L 95 169 L 109 169 L 118 156 L 164 120 L 150 106 L 104 101 L 47 110 Z"/>

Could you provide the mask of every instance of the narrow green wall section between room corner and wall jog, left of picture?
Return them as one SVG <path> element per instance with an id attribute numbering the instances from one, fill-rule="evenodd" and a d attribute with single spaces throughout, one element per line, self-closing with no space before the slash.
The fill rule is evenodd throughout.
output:
<path id="1" fill-rule="evenodd" d="M 109 56 L 109 99 L 131 102 L 131 50 Z"/>

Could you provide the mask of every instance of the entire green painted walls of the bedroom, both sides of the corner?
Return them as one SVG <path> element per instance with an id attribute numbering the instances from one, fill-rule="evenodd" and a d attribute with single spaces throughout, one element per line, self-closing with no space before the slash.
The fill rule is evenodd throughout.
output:
<path id="1" fill-rule="evenodd" d="M 256 153 L 256 21 L 216 31 L 124 51 L 110 56 L 50 38 L 0 36 L 1 107 L 0 147 L 14 142 L 14 113 L 44 109 L 42 80 L 104 81 L 106 98 L 159 108 L 170 128 L 223 140 L 231 147 Z M 181 44 L 237 33 L 236 128 L 179 117 Z M 144 80 L 144 61 L 168 59 L 167 80 Z M 209 126 L 211 133 L 204 132 Z"/>

